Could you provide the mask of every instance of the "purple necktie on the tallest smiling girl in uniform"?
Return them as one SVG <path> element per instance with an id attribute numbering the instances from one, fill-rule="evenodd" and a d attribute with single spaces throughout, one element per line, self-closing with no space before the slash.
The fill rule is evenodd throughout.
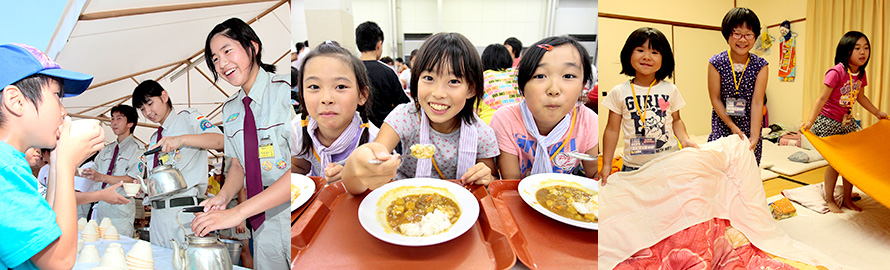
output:
<path id="1" fill-rule="evenodd" d="M 241 101 L 244 102 L 244 182 L 247 184 L 247 198 L 250 199 L 263 191 L 263 178 L 262 172 L 260 172 L 260 141 L 256 136 L 256 119 L 253 117 L 253 111 L 250 110 L 251 99 L 244 97 Z M 265 220 L 265 212 L 247 218 L 254 230 L 259 229 Z"/>

